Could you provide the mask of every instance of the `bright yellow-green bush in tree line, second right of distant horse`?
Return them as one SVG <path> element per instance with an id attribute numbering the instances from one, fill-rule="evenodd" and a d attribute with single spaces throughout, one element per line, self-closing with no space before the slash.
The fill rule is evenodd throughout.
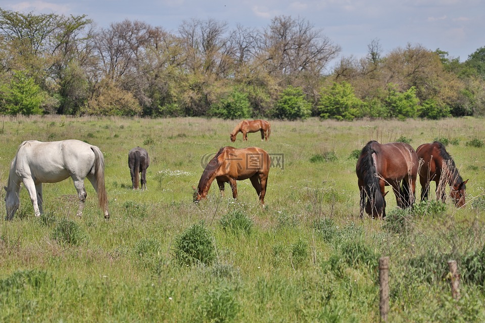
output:
<path id="1" fill-rule="evenodd" d="M 352 121 L 361 116 L 362 105 L 352 85 L 343 81 L 333 82 L 331 88 L 320 91 L 317 109 L 320 118 Z"/>

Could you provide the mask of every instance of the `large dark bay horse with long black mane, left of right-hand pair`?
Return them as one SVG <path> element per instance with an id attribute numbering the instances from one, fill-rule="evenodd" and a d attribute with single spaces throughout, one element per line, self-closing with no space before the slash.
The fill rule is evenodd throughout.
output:
<path id="1" fill-rule="evenodd" d="M 385 217 L 384 196 L 387 192 L 384 192 L 384 186 L 393 187 L 398 207 L 410 207 L 414 203 L 418 156 L 409 144 L 369 141 L 362 148 L 355 172 L 360 190 L 361 217 L 364 209 L 372 217 Z"/>

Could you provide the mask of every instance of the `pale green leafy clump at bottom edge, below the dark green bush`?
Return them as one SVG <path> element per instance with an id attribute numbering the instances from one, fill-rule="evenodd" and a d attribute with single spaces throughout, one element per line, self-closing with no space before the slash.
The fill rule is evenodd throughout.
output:
<path id="1" fill-rule="evenodd" d="M 196 301 L 196 320 L 200 322 L 231 322 L 240 310 L 234 288 L 226 283 L 211 287 Z"/>

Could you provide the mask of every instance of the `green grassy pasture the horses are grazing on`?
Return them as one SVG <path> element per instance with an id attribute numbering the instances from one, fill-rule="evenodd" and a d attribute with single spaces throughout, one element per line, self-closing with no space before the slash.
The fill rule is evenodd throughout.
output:
<path id="1" fill-rule="evenodd" d="M 0 221 L 0 321 L 5 322 L 375 322 L 377 261 L 390 256 L 392 322 L 485 321 L 485 122 L 271 121 L 231 143 L 238 121 L 3 117 L 0 181 L 23 140 L 79 139 L 101 148 L 111 220 L 86 180 L 76 217 L 72 180 L 44 184 L 44 214 L 23 188 L 11 222 Z M 359 217 L 356 151 L 369 140 L 417 148 L 448 141 L 467 184 L 467 204 L 416 203 L 387 218 Z M 266 208 L 249 180 L 238 199 L 192 202 L 203 164 L 222 146 L 259 146 L 283 158 L 270 170 Z M 128 151 L 151 158 L 148 191 L 131 190 Z M 280 154 L 280 155 L 277 155 Z M 419 182 L 419 181 L 418 181 Z M 419 200 L 420 186 L 416 195 Z M 432 184 L 431 192 L 434 192 Z M 431 194 L 433 196 L 433 194 Z M 204 240 L 205 239 L 205 240 Z M 183 262 L 182 245 L 201 250 Z M 458 261 L 461 298 L 451 297 L 446 261 Z"/>

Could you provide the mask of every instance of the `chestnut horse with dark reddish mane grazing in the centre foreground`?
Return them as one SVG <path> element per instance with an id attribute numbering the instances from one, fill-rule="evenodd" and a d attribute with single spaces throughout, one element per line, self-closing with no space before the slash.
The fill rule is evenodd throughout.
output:
<path id="1" fill-rule="evenodd" d="M 269 167 L 269 155 L 261 148 L 222 147 L 204 169 L 197 189 L 192 187 L 195 190 L 193 201 L 198 202 L 207 197 L 214 179 L 219 185 L 221 195 L 224 193 L 224 183 L 229 183 L 232 189 L 232 197 L 237 198 L 236 181 L 249 178 L 259 196 L 261 205 L 264 207 Z"/>

